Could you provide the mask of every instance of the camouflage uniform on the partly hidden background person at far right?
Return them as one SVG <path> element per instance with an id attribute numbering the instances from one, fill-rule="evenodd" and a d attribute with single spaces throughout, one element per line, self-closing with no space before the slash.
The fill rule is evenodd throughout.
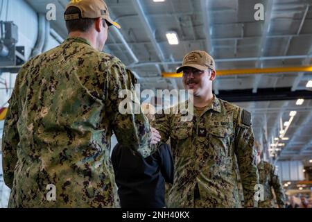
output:
<path id="1" fill-rule="evenodd" d="M 261 161 L 258 164 L 259 171 L 259 181 L 263 185 L 264 190 L 264 200 L 258 202 L 258 206 L 261 208 L 274 208 L 275 201 L 272 194 L 272 189 L 274 189 L 275 196 L 277 198 L 277 204 L 280 208 L 285 208 L 285 194 L 283 186 L 279 180 L 279 176 L 270 163 Z"/>

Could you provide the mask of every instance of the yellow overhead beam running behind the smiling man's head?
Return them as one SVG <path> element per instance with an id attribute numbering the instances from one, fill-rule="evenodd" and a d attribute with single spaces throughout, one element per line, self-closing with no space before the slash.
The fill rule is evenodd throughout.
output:
<path id="1" fill-rule="evenodd" d="M 283 74 L 287 72 L 312 72 L 311 67 L 273 67 L 263 69 L 228 69 L 217 70 L 217 76 L 250 75 L 250 74 Z M 163 78 L 182 78 L 182 73 L 163 72 Z"/>

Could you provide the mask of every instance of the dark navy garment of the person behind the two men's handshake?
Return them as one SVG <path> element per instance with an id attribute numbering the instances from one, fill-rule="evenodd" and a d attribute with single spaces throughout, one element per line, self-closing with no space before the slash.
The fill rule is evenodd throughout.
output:
<path id="1" fill-rule="evenodd" d="M 122 208 L 162 208 L 165 181 L 173 183 L 173 157 L 168 144 L 145 159 L 117 144 L 112 153 L 116 185 Z"/>

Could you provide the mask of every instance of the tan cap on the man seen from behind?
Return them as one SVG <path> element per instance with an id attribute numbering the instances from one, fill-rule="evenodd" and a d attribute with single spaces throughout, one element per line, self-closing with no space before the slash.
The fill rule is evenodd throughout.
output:
<path id="1" fill-rule="evenodd" d="M 65 11 L 69 7 L 79 8 L 81 12 L 81 17 L 78 13 L 64 15 L 65 21 L 74 19 L 102 18 L 105 19 L 109 25 L 115 26 L 116 28 L 121 28 L 118 23 L 112 21 L 112 19 L 110 18 L 110 13 L 108 12 L 107 5 L 103 0 L 71 0 L 71 2 L 67 5 Z"/>

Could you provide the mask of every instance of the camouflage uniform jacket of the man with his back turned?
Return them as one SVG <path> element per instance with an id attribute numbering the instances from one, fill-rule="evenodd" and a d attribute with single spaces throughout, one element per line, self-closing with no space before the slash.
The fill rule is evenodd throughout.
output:
<path id="1" fill-rule="evenodd" d="M 9 207 L 115 207 L 112 131 L 147 157 L 144 114 L 120 114 L 130 71 L 83 38 L 31 59 L 19 71 L 3 132 Z M 48 201 L 47 185 L 56 200 Z"/>

